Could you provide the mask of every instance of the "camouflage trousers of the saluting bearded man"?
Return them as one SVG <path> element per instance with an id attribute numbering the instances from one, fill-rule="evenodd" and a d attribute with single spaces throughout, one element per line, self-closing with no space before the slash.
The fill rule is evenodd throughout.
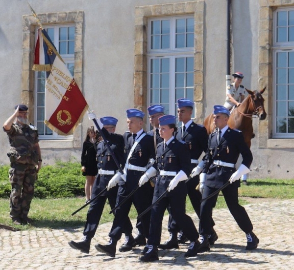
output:
<path id="1" fill-rule="evenodd" d="M 37 169 L 34 165 L 11 164 L 9 169 L 11 218 L 27 218 L 34 195 L 36 178 Z"/>

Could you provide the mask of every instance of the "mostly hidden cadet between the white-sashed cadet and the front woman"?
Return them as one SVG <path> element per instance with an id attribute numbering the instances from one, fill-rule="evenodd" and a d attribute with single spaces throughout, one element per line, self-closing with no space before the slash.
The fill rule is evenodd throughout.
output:
<path id="1" fill-rule="evenodd" d="M 158 124 L 158 118 L 160 116 L 164 115 L 164 107 L 161 105 L 151 105 L 147 108 L 148 110 L 148 114 L 149 114 L 149 123 L 152 126 L 152 129 L 150 131 L 147 132 L 148 135 L 152 136 L 153 138 L 153 144 L 154 144 L 154 149 L 156 150 L 157 145 L 159 143 L 161 143 L 163 141 L 163 139 L 160 137 L 159 135 L 159 124 Z M 154 130 L 155 130 L 155 136 L 154 136 Z M 154 159 L 150 159 L 150 162 L 147 166 L 147 168 L 149 168 L 150 166 L 152 166 L 152 164 L 154 163 Z M 153 190 L 154 190 L 154 185 L 155 185 L 155 179 L 152 180 L 152 190 L 151 190 L 151 198 L 150 198 L 150 203 L 152 202 L 152 198 L 153 198 Z M 137 245 L 139 246 L 145 246 L 146 245 L 146 238 L 144 237 L 142 231 L 142 225 L 141 225 L 141 221 L 137 220 L 137 225 L 136 228 L 138 228 L 137 231 L 137 236 L 135 237 L 135 241 L 137 243 Z"/>

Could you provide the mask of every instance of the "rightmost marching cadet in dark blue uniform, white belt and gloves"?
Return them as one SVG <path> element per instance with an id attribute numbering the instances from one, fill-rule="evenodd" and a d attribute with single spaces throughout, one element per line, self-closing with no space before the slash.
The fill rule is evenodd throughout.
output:
<path id="1" fill-rule="evenodd" d="M 229 111 L 224 106 L 214 106 L 214 124 L 217 129 L 209 135 L 208 148 L 205 156 L 202 175 L 206 176 L 203 199 L 208 197 L 227 181 L 230 185 L 222 190 L 225 202 L 247 237 L 246 249 L 256 249 L 258 238 L 252 232 L 253 226 L 244 207 L 238 202 L 238 187 L 240 177 L 248 173 L 252 162 L 252 154 L 244 141 L 241 131 L 231 129 L 227 125 Z M 241 166 L 236 170 L 235 165 L 239 155 L 242 155 Z M 203 185 L 203 184 L 202 184 Z M 201 203 L 200 210 L 200 234 L 203 236 L 202 246 L 208 247 L 208 235 L 211 234 L 212 209 L 217 201 L 218 195 Z"/>

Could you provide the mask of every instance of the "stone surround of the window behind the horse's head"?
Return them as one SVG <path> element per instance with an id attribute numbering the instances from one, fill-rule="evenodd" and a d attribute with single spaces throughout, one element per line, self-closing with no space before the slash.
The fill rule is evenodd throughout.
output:
<path id="1" fill-rule="evenodd" d="M 259 121 L 259 148 L 293 148 L 294 139 L 271 139 L 272 133 L 272 43 L 273 12 L 278 7 L 294 7 L 294 0 L 259 0 L 259 88 L 267 86 L 263 94 L 267 119 Z"/>

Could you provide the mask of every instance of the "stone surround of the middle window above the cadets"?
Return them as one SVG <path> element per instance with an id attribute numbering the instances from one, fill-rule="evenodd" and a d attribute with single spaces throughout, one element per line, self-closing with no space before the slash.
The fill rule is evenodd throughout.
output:
<path id="1" fill-rule="evenodd" d="M 195 121 L 203 122 L 203 33 L 204 0 L 135 8 L 134 105 L 146 112 L 147 23 L 149 18 L 194 14 L 194 101 Z"/>

